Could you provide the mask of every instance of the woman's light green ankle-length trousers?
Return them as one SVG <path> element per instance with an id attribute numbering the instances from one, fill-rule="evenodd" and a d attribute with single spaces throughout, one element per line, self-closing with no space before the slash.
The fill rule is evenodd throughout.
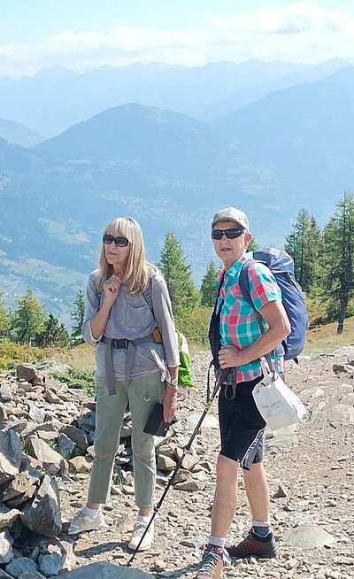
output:
<path id="1" fill-rule="evenodd" d="M 165 382 L 161 374 L 149 374 L 130 380 L 127 391 L 123 381 L 116 381 L 116 394 L 109 395 L 104 380 L 96 380 L 95 459 L 89 481 L 89 501 L 105 503 L 112 484 L 114 457 L 120 428 L 129 404 L 132 413 L 132 450 L 135 502 L 139 508 L 154 503 L 156 459 L 154 437 L 143 432 L 151 410 L 161 402 Z"/>

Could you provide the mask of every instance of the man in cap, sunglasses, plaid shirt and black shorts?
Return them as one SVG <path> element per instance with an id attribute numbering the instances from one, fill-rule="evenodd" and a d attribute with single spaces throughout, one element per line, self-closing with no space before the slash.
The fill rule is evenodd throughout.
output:
<path id="1" fill-rule="evenodd" d="M 227 379 L 219 392 L 221 450 L 212 506 L 212 532 L 197 579 L 219 579 L 221 575 L 227 532 L 237 506 L 240 467 L 252 525 L 241 543 L 227 548 L 228 555 L 234 559 L 271 558 L 276 553 L 269 524 L 269 489 L 262 463 L 262 436 L 266 423 L 258 413 L 252 390 L 262 378 L 259 358 L 273 352 L 291 328 L 281 302 L 281 290 L 263 264 L 256 262 L 249 269 L 254 307 L 242 297 L 238 280 L 251 238 L 249 220 L 244 212 L 228 207 L 214 215 L 212 241 L 224 268 L 219 274 L 219 297 L 211 324 L 219 315 L 219 372 L 227 369 L 229 372 L 222 374 L 227 374 Z M 262 317 L 263 332 L 257 312 Z"/>

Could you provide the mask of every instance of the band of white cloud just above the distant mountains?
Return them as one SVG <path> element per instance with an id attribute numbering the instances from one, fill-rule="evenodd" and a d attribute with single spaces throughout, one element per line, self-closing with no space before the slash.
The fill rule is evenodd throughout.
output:
<path id="1" fill-rule="evenodd" d="M 31 74 L 46 66 L 76 71 L 151 61 L 201 66 L 246 58 L 321 62 L 354 58 L 354 18 L 312 2 L 279 9 L 201 15 L 194 29 L 164 32 L 147 27 L 112 26 L 96 32 L 66 30 L 46 42 L 0 45 L 0 75 Z"/>

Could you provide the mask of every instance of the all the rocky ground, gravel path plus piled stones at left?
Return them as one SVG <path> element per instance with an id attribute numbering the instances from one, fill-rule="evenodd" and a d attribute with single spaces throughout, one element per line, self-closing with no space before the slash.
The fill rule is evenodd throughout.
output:
<path id="1" fill-rule="evenodd" d="M 176 448 L 187 443 L 204 409 L 209 359 L 207 353 L 194 357 L 196 388 L 181 405 L 180 420 L 168 439 L 157 439 L 157 497 L 164 491 L 175 464 Z M 307 413 L 296 428 L 266 436 L 271 520 L 280 553 L 276 560 L 239 561 L 237 566 L 225 569 L 226 577 L 354 576 L 353 360 L 354 347 L 344 347 L 333 355 L 302 357 L 299 367 L 289 363 L 287 380 L 301 393 Z M 115 476 L 109 503 L 104 506 L 107 526 L 78 537 L 65 537 L 64 533 L 58 536 L 61 521 L 68 521 L 85 502 L 95 405 L 92 400 L 85 400 L 82 391 L 62 390 L 62 385 L 55 384 L 48 374 L 44 383 L 41 375 L 27 375 L 27 368 L 23 372 L 24 375 L 18 372 L 17 377 L 6 373 L 0 376 L 0 500 L 4 505 L 0 508 L 0 529 L 4 529 L 0 531 L 0 577 L 38 579 L 51 576 L 50 569 L 52 575 L 58 575 L 60 565 L 70 571 L 75 564 L 80 568 L 97 561 L 125 566 L 132 554 L 127 542 L 136 514 L 128 425 L 121 441 L 126 444 L 121 445 L 117 459 L 124 470 Z M 84 452 L 77 452 L 79 448 Z M 156 516 L 153 548 L 137 554 L 132 567 L 171 579 L 195 575 L 209 535 L 218 450 L 215 400 L 196 436 L 192 456 L 183 462 L 178 482 Z M 21 459 L 21 452 L 25 459 L 24 454 Z M 72 458 L 67 460 L 69 455 Z M 250 526 L 242 480 L 239 486 L 240 504 L 228 537 L 230 542 L 240 539 Z M 41 509 L 42 518 L 38 515 Z M 31 536 L 28 529 L 35 533 Z M 41 537 L 42 544 L 38 542 Z M 19 574 L 16 564 L 28 565 L 28 559 L 20 559 L 23 556 L 35 560 L 34 575 Z M 43 560 L 45 557 L 47 560 Z M 45 568 L 49 569 L 46 573 Z M 38 569 L 43 575 L 38 574 Z M 88 575 L 91 576 L 95 575 Z"/>

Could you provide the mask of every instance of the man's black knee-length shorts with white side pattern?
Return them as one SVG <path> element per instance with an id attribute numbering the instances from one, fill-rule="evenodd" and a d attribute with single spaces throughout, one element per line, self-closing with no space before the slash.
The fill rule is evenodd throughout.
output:
<path id="1" fill-rule="evenodd" d="M 235 398 L 225 398 L 223 384 L 219 392 L 219 426 L 222 456 L 239 462 L 250 470 L 252 463 L 263 460 L 263 433 L 266 422 L 258 412 L 252 390 L 262 376 L 250 382 L 239 382 Z M 231 389 L 228 387 L 227 396 Z"/>

